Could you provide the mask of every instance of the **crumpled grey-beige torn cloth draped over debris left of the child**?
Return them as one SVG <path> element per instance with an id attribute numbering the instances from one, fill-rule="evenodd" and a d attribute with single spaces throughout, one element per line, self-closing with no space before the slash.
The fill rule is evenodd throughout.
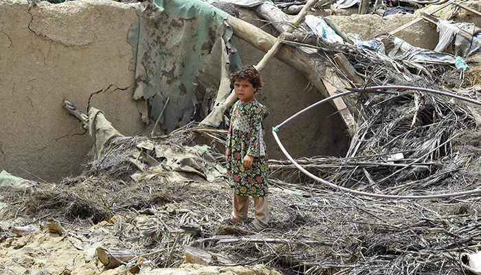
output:
<path id="1" fill-rule="evenodd" d="M 137 168 L 138 171 L 135 170 L 131 175 L 135 181 L 165 175 L 166 171 L 195 173 L 208 181 L 227 173 L 210 154 L 207 145 L 170 146 L 154 144 L 142 135 L 124 136 L 112 126 L 102 111 L 93 107 L 89 110 L 88 124 L 90 134 L 95 138 L 91 156 L 96 162 L 92 166 L 100 168 L 102 173 L 106 173 L 108 167 L 115 166 L 115 162 L 128 163 Z M 122 173 L 128 174 L 131 170 L 122 168 Z M 12 177 L 3 177 L 3 174 L 0 173 L 0 186 L 4 178 L 12 181 Z"/>

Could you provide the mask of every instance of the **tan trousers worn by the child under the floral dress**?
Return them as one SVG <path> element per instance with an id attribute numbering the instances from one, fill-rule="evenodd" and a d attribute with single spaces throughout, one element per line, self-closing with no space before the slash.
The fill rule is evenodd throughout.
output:
<path id="1" fill-rule="evenodd" d="M 267 228 L 269 222 L 269 203 L 267 196 L 252 197 L 254 199 L 254 210 L 256 210 L 256 218 L 252 223 L 258 230 Z M 232 210 L 232 219 L 236 223 L 241 223 L 247 219 L 249 212 L 249 196 L 238 196 L 234 192 L 234 210 Z"/>

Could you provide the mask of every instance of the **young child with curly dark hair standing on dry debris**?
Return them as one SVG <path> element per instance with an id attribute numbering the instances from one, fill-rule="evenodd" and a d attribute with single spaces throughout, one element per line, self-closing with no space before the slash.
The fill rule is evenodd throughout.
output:
<path id="1" fill-rule="evenodd" d="M 234 188 L 234 210 L 228 223 L 240 224 L 247 219 L 249 196 L 254 199 L 256 217 L 243 228 L 259 231 L 267 228 L 269 208 L 267 203 L 267 151 L 264 142 L 265 107 L 254 94 L 262 87 L 260 74 L 254 66 L 240 67 L 231 74 L 230 82 L 238 101 L 230 111 L 227 134 L 227 180 Z"/>

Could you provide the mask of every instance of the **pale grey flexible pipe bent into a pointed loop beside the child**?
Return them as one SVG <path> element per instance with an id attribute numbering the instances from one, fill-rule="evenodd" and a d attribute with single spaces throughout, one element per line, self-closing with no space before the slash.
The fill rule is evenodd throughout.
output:
<path id="1" fill-rule="evenodd" d="M 280 128 L 282 128 L 282 126 L 285 126 L 287 123 L 289 123 L 291 120 L 293 120 L 293 118 L 298 117 L 298 115 L 301 115 L 302 113 L 305 113 L 306 111 L 309 111 L 310 109 L 313 109 L 314 107 L 317 107 L 317 106 L 322 105 L 326 102 L 329 102 L 329 101 L 331 101 L 335 98 L 340 98 L 342 96 L 347 96 L 349 94 L 353 94 L 353 93 L 357 93 L 357 92 L 375 91 L 375 90 L 379 90 L 379 89 L 410 89 L 410 90 L 414 90 L 414 91 L 425 91 L 425 92 L 432 93 L 432 94 L 439 94 L 439 95 L 442 95 L 442 96 L 450 96 L 451 98 L 457 98 L 459 100 L 464 100 L 464 101 L 471 102 L 473 104 L 477 104 L 477 105 L 481 106 L 481 102 L 479 102 L 478 100 L 472 100 L 471 98 L 465 98 L 463 96 L 458 96 L 458 95 L 455 95 L 455 94 L 449 94 L 449 93 L 444 92 L 444 91 L 437 91 L 437 90 L 433 90 L 433 89 L 425 89 L 425 88 L 420 88 L 420 87 L 374 86 L 374 87 L 368 87 L 366 89 L 350 89 L 349 91 L 345 91 L 344 93 L 336 94 L 334 96 L 324 98 L 323 100 L 320 100 L 319 102 L 316 102 L 316 103 L 312 104 L 311 106 L 306 107 L 306 108 L 302 109 L 301 111 L 298 111 L 298 113 L 295 113 L 294 115 L 292 115 L 287 120 L 284 120 L 284 122 L 282 122 L 278 126 L 273 127 L 272 135 L 274 136 L 274 139 L 276 140 L 277 144 L 279 145 L 282 153 L 284 153 L 284 155 L 292 162 L 292 164 L 294 164 L 294 166 L 297 167 L 302 173 L 304 173 L 308 177 L 311 177 L 311 179 L 314 179 L 316 181 L 320 181 L 322 184 L 326 184 L 327 186 L 331 186 L 331 188 L 339 189 L 343 192 L 348 192 L 350 194 L 366 196 L 366 197 L 375 197 L 375 198 L 379 198 L 379 199 L 438 199 L 438 198 L 459 197 L 459 196 L 473 195 L 473 194 L 480 193 L 481 189 L 475 189 L 475 190 L 469 190 L 469 191 L 465 191 L 465 192 L 454 192 L 454 193 L 447 193 L 447 194 L 402 196 L 402 195 L 374 194 L 374 193 L 370 193 L 370 192 L 361 192 L 361 191 L 345 188 L 345 187 L 342 187 L 342 186 L 338 186 L 337 184 L 333 184 L 330 181 L 326 181 L 325 179 L 322 179 L 320 177 L 317 177 L 317 176 L 313 175 L 312 173 L 310 173 L 308 170 L 302 168 L 302 166 L 300 166 L 300 164 L 298 164 L 298 162 L 296 162 L 295 159 L 293 159 L 293 157 L 291 157 L 291 155 L 289 155 L 286 148 L 284 148 L 284 145 L 282 145 L 282 142 L 280 142 L 280 139 L 277 135 L 278 130 Z M 274 129 L 276 129 L 277 131 L 274 131 Z"/>

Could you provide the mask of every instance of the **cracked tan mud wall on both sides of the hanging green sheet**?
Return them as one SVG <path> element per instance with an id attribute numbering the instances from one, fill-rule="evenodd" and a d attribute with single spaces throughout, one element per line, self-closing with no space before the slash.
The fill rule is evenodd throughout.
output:
<path id="1" fill-rule="evenodd" d="M 29 5 L 0 0 L 0 169 L 28 179 L 54 181 L 78 175 L 93 140 L 61 107 L 64 100 L 87 112 L 102 109 L 121 133 L 150 133 L 132 100 L 134 72 L 128 28 L 135 10 L 115 1 L 69 1 Z M 264 53 L 235 39 L 243 63 Z M 309 82 L 280 61 L 262 72 L 258 98 L 266 120 L 271 157 L 282 158 L 270 129 L 299 109 L 320 100 Z M 313 111 L 281 133 L 294 157 L 342 155 L 348 138 L 333 107 Z"/>

